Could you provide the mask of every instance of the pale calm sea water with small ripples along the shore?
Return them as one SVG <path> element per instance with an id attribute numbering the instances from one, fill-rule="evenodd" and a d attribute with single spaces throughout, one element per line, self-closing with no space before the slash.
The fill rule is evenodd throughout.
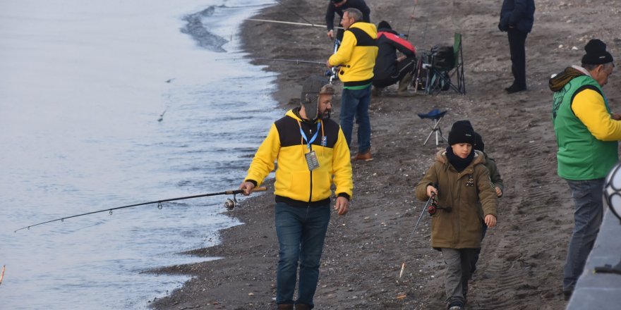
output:
<path id="1" fill-rule="evenodd" d="M 13 232 L 236 189 L 282 111 L 274 76 L 217 58 L 243 56 L 239 23 L 271 3 L 0 4 L 1 309 L 144 309 L 187 279 L 142 271 L 239 224 L 220 196 Z"/>

